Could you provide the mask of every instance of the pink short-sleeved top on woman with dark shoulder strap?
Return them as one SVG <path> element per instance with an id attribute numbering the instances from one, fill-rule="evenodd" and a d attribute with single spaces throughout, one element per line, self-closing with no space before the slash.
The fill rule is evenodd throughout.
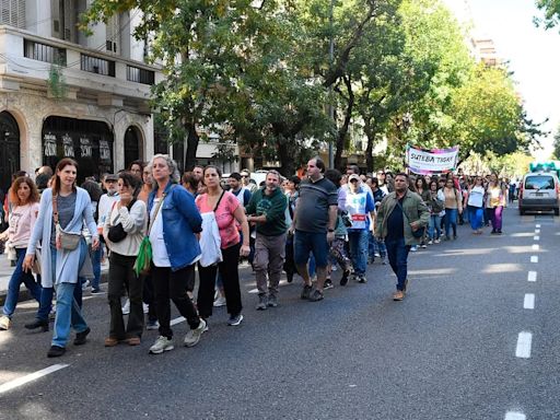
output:
<path id="1" fill-rule="evenodd" d="M 213 207 L 208 206 L 208 194 L 201 194 L 197 197 L 196 203 L 198 211 L 208 213 L 213 210 Z M 240 201 L 230 191 L 224 191 L 220 206 L 215 209 L 215 221 L 220 231 L 220 240 L 222 241 L 222 249 L 240 243 L 240 231 L 235 223 L 233 213 L 240 207 Z"/>

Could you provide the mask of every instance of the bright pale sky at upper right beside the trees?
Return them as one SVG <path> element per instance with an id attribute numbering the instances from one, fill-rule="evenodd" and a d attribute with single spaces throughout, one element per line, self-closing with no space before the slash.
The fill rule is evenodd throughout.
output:
<path id="1" fill-rule="evenodd" d="M 470 15 L 475 34 L 494 40 L 498 56 L 514 72 L 528 117 L 536 122 L 549 119 L 544 128 L 551 132 L 541 139 L 544 150 L 534 152 L 537 159 L 549 159 L 560 124 L 560 27 L 545 31 L 534 25 L 533 18 L 541 15 L 534 0 L 443 1 L 459 21 Z"/>

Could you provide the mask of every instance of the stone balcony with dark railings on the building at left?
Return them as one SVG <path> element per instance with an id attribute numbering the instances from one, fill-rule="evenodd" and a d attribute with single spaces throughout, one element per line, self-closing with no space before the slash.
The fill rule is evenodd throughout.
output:
<path id="1" fill-rule="evenodd" d="M 148 106 L 160 69 L 57 38 L 0 25 L 0 92 L 21 84 L 45 89 L 51 65 L 62 66 L 69 98 L 97 98 L 101 106 Z"/>

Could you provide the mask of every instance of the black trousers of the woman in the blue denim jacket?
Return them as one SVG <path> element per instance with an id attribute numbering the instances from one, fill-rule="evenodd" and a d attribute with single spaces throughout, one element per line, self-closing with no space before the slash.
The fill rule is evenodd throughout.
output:
<path id="1" fill-rule="evenodd" d="M 171 329 L 170 299 L 177 307 L 179 314 L 187 319 L 190 329 L 197 328 L 200 324 L 200 318 L 198 317 L 192 301 L 187 294 L 187 282 L 189 277 L 195 276 L 195 265 L 192 264 L 177 271 L 172 271 L 171 267 L 155 267 L 152 264 L 151 273 L 155 291 L 160 335 L 168 339 L 173 337 L 173 330 Z"/>

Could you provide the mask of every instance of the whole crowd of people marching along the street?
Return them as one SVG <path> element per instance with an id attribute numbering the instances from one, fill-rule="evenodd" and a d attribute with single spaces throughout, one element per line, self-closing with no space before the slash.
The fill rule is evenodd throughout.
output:
<path id="1" fill-rule="evenodd" d="M 150 353 L 160 354 L 174 348 L 171 302 L 189 325 L 186 347 L 209 329 L 215 306 L 226 306 L 229 326 L 242 324 L 242 260 L 256 278 L 258 311 L 280 304 L 282 271 L 289 282 L 301 277 L 303 300 L 318 302 L 334 287 L 335 270 L 341 287 L 350 279 L 365 283 L 376 258 L 390 265 L 397 278 L 392 298 L 402 301 L 409 252 L 457 240 L 457 224 L 467 222 L 472 234 L 489 223 L 492 234 L 501 234 L 509 201 L 509 187 L 495 174 L 360 174 L 355 165 L 342 174 L 326 170 L 319 158 L 307 162 L 302 178 L 271 170 L 259 186 L 247 171 L 224 180 L 213 165 L 180 176 L 164 154 L 105 174 L 101 185 L 86 179 L 79 187 L 78 171 L 66 158 L 54 172 L 40 168 L 35 182 L 14 174 L 4 206 L 8 229 L 0 234 L 14 261 L 0 330 L 10 329 L 24 283 L 38 302 L 25 328 L 48 331 L 55 315 L 50 358 L 65 354 L 71 329 L 75 346 L 86 342 L 82 294 L 90 287 L 92 294 L 104 293 L 104 345 L 138 346 L 145 329 L 159 329 Z M 140 255 L 149 255 L 148 264 L 139 264 Z"/>

